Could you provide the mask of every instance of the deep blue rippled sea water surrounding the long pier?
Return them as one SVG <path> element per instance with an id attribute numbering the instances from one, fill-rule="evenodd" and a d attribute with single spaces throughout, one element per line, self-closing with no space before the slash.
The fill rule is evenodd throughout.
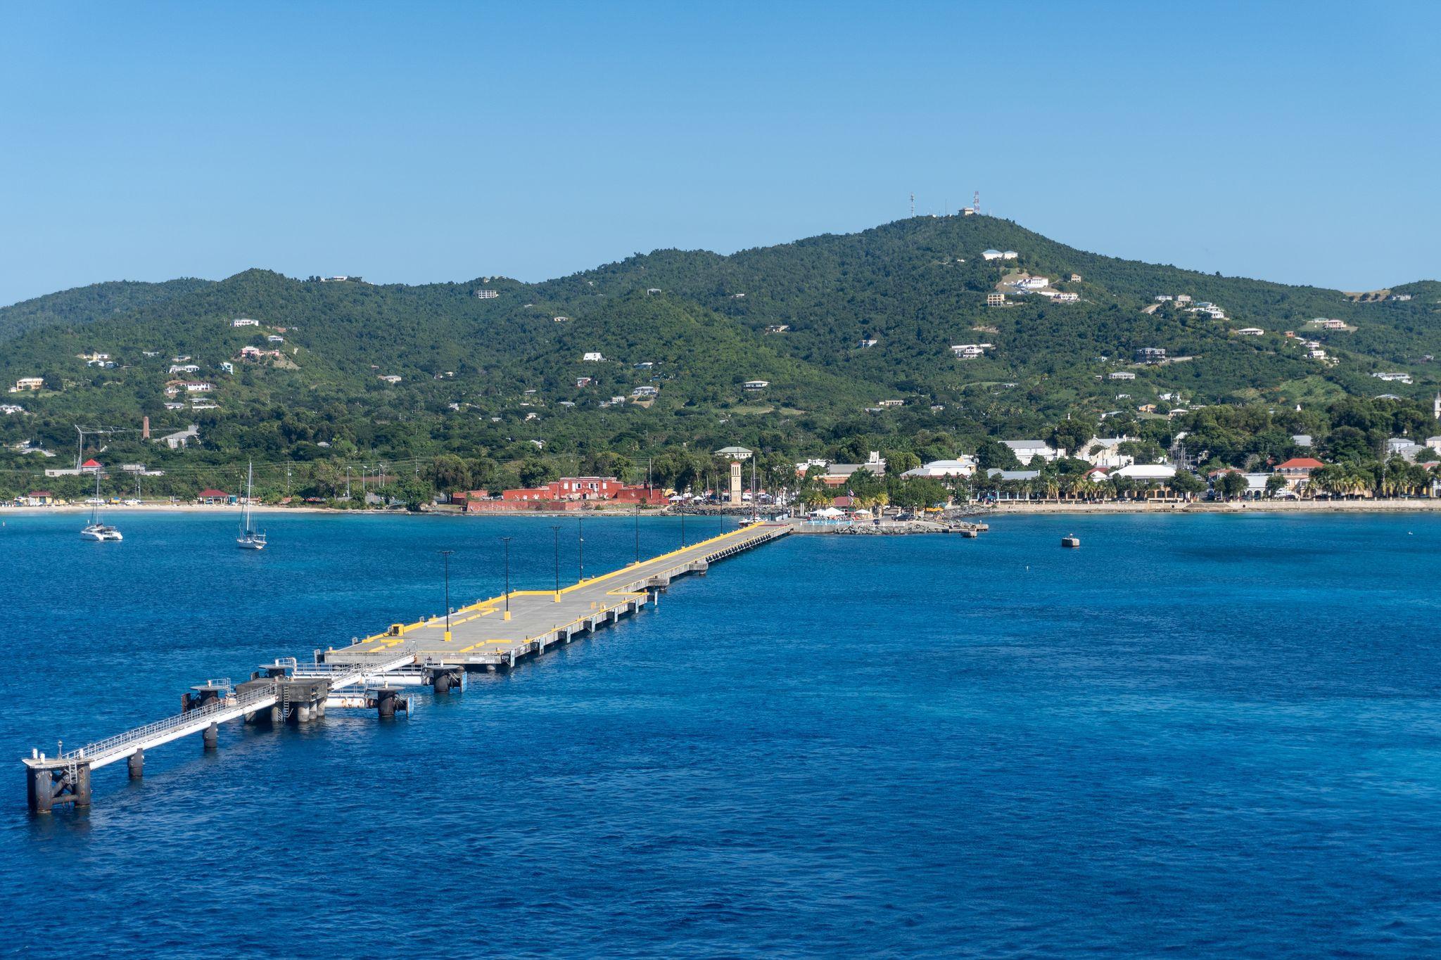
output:
<path id="1" fill-rule="evenodd" d="M 438 612 L 441 548 L 457 603 L 500 535 L 545 587 L 553 521 L 267 517 L 249 554 L 229 515 L 0 520 L 0 954 L 1441 950 L 1438 518 L 790 537 L 408 720 L 229 725 L 49 818 L 30 747 Z M 634 537 L 586 521 L 586 570 Z"/>

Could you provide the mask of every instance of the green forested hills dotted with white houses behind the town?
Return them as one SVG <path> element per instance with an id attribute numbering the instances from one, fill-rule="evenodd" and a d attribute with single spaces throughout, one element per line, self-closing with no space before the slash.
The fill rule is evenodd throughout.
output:
<path id="1" fill-rule="evenodd" d="M 1027 276 L 1046 282 L 1022 292 Z M 1004 305 L 987 305 L 997 292 Z M 1212 404 L 1294 413 L 1388 394 L 1421 409 L 1441 384 L 1438 301 L 1435 282 L 1347 296 L 1121 261 L 986 216 L 731 256 L 657 250 L 542 284 L 259 269 L 98 284 L 0 309 L 0 377 L 43 379 L 9 394 L 22 410 L 0 417 L 0 468 L 26 478 L 73 459 L 73 425 L 144 416 L 157 436 L 199 425 L 199 446 L 105 442 L 171 471 L 454 452 L 514 475 L 527 458 L 579 468 L 736 442 L 850 456 L 954 453 L 1068 422 L 1159 435 Z M 963 344 L 984 345 L 960 358 Z M 1166 363 L 1138 363 L 1143 348 Z"/>

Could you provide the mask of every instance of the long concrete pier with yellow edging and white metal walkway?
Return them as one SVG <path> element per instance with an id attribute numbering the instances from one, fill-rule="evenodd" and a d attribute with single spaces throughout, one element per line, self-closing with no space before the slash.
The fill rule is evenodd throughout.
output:
<path id="1" fill-rule="evenodd" d="M 32 751 L 23 759 L 30 810 L 89 806 L 92 770 L 127 760 L 130 776 L 141 777 L 147 750 L 196 733 L 213 748 L 219 724 L 233 720 L 310 723 L 324 717 L 327 705 L 393 715 L 408 710 L 398 695 L 401 687 L 424 684 L 447 692 L 463 687 L 467 669 L 513 668 L 522 658 L 656 603 L 676 577 L 705 573 L 718 560 L 788 533 L 791 525 L 784 522 L 752 524 L 561 590 L 513 590 L 452 610 L 450 630 L 444 616 L 393 623 L 383 633 L 326 651 L 316 664 L 277 658 L 238 685 L 206 681 L 186 694 L 184 710 L 173 717 L 55 757 Z"/>

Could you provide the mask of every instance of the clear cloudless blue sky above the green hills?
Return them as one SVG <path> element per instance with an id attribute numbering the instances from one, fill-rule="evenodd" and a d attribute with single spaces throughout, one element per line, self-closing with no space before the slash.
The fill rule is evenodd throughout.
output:
<path id="1" fill-rule="evenodd" d="M 1441 4 L 4 4 L 0 304 L 543 279 L 955 209 L 1441 278 Z"/>

